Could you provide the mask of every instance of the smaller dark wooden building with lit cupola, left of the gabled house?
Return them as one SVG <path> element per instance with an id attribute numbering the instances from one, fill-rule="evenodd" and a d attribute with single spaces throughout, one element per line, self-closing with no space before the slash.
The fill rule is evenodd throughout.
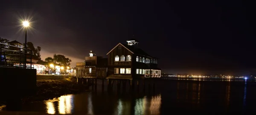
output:
<path id="1" fill-rule="evenodd" d="M 76 75 L 85 78 L 106 78 L 108 59 L 96 56 L 90 51 L 84 62 L 76 63 Z"/>

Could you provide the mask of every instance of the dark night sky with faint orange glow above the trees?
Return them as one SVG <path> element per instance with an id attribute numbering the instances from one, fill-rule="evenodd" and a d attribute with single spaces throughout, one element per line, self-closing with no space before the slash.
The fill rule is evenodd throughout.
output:
<path id="1" fill-rule="evenodd" d="M 0 37 L 24 43 L 20 19 L 30 19 L 28 41 L 41 46 L 43 60 L 62 54 L 75 67 L 90 50 L 106 57 L 134 35 L 140 48 L 160 58 L 163 72 L 255 73 L 256 9 L 242 0 L 2 0 L 0 4 Z"/>

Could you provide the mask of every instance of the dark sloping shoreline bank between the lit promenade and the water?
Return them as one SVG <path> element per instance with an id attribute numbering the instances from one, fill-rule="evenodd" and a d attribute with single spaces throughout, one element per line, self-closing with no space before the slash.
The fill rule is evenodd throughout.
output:
<path id="1" fill-rule="evenodd" d="M 76 83 L 76 78 L 65 78 L 59 80 L 37 80 L 35 93 L 23 97 L 22 103 L 33 103 L 58 98 L 62 95 L 90 92 L 87 85 Z M 0 106 L 6 105 L 5 99 L 0 99 Z"/>

